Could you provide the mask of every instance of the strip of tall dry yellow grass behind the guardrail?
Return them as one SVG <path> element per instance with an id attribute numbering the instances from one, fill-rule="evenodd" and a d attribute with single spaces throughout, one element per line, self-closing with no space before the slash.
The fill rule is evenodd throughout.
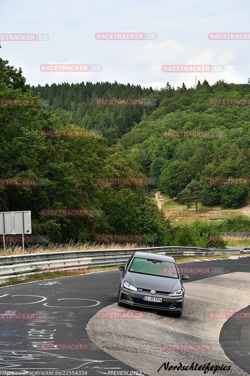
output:
<path id="1" fill-rule="evenodd" d="M 47 253 L 47 252 L 70 252 L 70 251 L 84 251 L 84 250 L 101 250 L 101 249 L 126 249 L 126 248 L 145 248 L 150 247 L 149 244 L 138 244 L 138 243 L 109 243 L 100 244 L 100 243 L 91 243 L 91 244 L 82 244 L 82 243 L 73 243 L 72 241 L 66 244 L 34 244 L 30 247 L 22 249 L 22 246 L 15 244 L 10 244 L 6 246 L 5 252 L 1 249 L 0 256 L 8 255 L 22 255 L 30 253 Z"/>

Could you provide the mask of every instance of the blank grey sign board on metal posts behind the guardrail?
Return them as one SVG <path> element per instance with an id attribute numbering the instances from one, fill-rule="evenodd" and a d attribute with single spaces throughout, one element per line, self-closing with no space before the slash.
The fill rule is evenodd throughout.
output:
<path id="1" fill-rule="evenodd" d="M 0 234 L 3 235 L 5 250 L 5 235 L 22 234 L 22 249 L 24 249 L 24 234 L 31 234 L 31 211 L 0 212 Z"/>

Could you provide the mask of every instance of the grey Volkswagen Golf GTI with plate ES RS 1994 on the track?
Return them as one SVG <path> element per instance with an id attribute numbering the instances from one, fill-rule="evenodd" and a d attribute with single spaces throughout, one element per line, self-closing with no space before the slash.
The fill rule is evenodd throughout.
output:
<path id="1" fill-rule="evenodd" d="M 121 283 L 118 306 L 129 305 L 172 312 L 181 316 L 184 287 L 174 258 L 151 252 L 135 252 L 126 266 L 119 266 Z"/>

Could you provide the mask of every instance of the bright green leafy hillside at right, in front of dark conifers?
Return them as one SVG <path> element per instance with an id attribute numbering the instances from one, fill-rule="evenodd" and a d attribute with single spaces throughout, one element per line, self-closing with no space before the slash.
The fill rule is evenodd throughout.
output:
<path id="1" fill-rule="evenodd" d="M 198 83 L 193 91 L 181 88 L 163 99 L 120 143 L 135 156 L 142 172 L 159 179 L 158 188 L 170 197 L 180 198 L 181 191 L 195 179 L 204 205 L 237 208 L 243 205 L 249 185 L 210 185 L 209 178 L 250 176 L 250 109 L 209 106 L 208 98 L 249 96 L 250 85 L 225 82 L 213 86 Z M 190 132 L 190 137 L 187 133 L 172 138 L 162 133 L 168 129 L 199 130 L 204 136 Z"/>

